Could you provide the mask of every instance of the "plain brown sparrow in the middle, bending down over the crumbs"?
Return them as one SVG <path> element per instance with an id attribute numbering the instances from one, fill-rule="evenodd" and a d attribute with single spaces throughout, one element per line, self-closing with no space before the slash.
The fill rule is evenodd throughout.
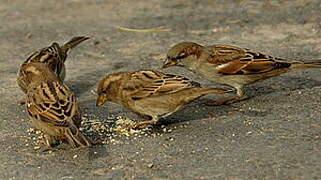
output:
<path id="1" fill-rule="evenodd" d="M 136 128 L 154 124 L 203 95 L 226 92 L 229 91 L 202 88 L 199 83 L 185 77 L 155 70 L 116 72 L 99 82 L 96 105 L 111 101 L 150 118 L 132 126 Z"/>

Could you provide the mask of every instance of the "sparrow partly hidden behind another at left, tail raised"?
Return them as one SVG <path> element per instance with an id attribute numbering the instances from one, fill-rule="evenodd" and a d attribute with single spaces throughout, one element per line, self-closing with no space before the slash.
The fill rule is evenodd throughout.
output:
<path id="1" fill-rule="evenodd" d="M 65 61 L 69 50 L 87 39 L 89 39 L 89 37 L 73 37 L 63 46 L 59 46 L 58 43 L 54 42 L 51 46 L 45 47 L 31 54 L 20 66 L 18 71 L 18 85 L 20 86 L 21 90 L 25 93 L 27 92 L 25 82 L 23 82 L 23 78 L 21 78 L 21 71 L 23 71 L 21 67 L 23 67 L 23 65 L 31 62 L 41 62 L 47 64 L 49 68 L 58 75 L 60 80 L 63 81 L 66 75 Z"/>

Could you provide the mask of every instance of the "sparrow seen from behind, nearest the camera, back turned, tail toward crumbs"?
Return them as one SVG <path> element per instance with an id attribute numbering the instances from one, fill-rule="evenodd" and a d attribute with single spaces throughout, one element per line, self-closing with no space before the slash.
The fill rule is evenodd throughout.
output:
<path id="1" fill-rule="evenodd" d="M 27 90 L 27 112 L 34 126 L 44 133 L 52 147 L 67 141 L 72 147 L 91 146 L 80 131 L 81 114 L 74 93 L 47 64 L 30 62 L 21 68 Z"/>

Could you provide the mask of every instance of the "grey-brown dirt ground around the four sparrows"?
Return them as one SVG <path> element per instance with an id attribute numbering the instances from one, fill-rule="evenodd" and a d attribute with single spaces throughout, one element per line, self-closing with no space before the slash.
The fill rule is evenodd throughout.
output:
<path id="1" fill-rule="evenodd" d="M 165 32 L 129 32 L 165 26 Z M 19 65 L 73 36 L 91 40 L 66 62 L 87 120 L 138 119 L 91 90 L 106 73 L 157 69 L 181 41 L 225 43 L 288 58 L 321 58 L 319 0 L 0 0 L 0 179 L 321 179 L 321 71 L 291 72 L 247 88 L 249 99 L 206 107 L 203 97 L 145 134 L 105 134 L 105 144 L 34 150 Z M 218 86 L 182 68 L 204 86 Z M 165 125 L 165 126 L 164 126 Z"/>

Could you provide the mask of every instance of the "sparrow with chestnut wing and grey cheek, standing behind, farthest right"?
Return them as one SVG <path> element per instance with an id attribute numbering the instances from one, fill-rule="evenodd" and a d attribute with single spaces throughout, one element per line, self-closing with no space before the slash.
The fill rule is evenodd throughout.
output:
<path id="1" fill-rule="evenodd" d="M 245 85 L 296 69 L 321 68 L 321 61 L 287 62 L 236 46 L 201 46 L 193 42 L 182 42 L 168 51 L 163 68 L 170 66 L 183 66 L 209 80 L 234 87 L 237 90 L 235 96 L 207 103 L 220 105 L 244 96 Z"/>

